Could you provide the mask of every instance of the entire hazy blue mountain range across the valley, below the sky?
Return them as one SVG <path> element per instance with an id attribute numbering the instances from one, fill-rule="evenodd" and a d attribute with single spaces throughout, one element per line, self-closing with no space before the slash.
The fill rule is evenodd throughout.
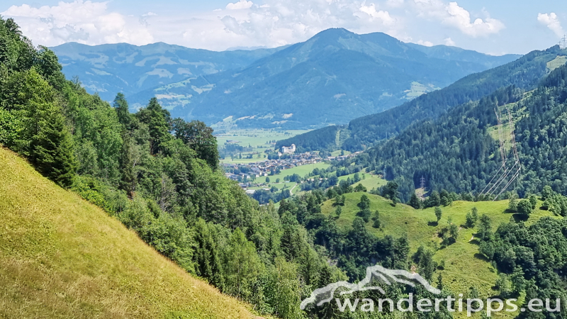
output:
<path id="1" fill-rule="evenodd" d="M 67 43 L 52 50 L 67 77 L 78 76 L 103 99 L 122 91 L 139 108 L 156 96 L 172 116 L 241 128 L 344 124 L 520 57 L 425 47 L 342 28 L 275 49 Z"/>

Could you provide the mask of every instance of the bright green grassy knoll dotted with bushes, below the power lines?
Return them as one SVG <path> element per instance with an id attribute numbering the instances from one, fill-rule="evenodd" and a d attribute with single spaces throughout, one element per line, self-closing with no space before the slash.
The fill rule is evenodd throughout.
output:
<path id="1" fill-rule="evenodd" d="M 349 230 L 352 220 L 356 217 L 359 208 L 357 203 L 360 201 L 361 195 L 364 193 L 351 193 L 345 195 L 345 204 L 342 208 L 342 214 L 337 219 L 337 225 L 343 230 Z M 400 237 L 403 234 L 408 235 L 410 241 L 410 250 L 413 254 L 421 245 L 430 250 L 437 250 L 441 247 L 441 238 L 437 235 L 441 228 L 446 227 L 449 216 L 452 222 L 459 225 L 458 240 L 447 247 L 437 250 L 434 259 L 437 262 L 444 260 L 444 270 L 437 270 L 443 276 L 444 285 L 449 287 L 454 293 L 466 293 L 471 286 L 476 286 L 481 294 L 481 298 L 494 296 L 493 291 L 498 272 L 494 269 L 485 257 L 478 253 L 478 242 L 471 240 L 474 229 L 464 227 L 466 223 L 466 213 L 471 211 L 473 207 L 478 209 L 479 216 L 487 214 L 492 219 L 493 230 L 498 228 L 500 223 L 508 223 L 514 214 L 506 213 L 508 201 L 482 201 L 467 202 L 456 201 L 451 206 L 442 207 L 442 218 L 437 223 L 434 214 L 434 208 L 424 210 L 415 210 L 414 208 L 398 204 L 396 207 L 391 206 L 391 201 L 372 194 L 366 194 L 371 201 L 371 211 L 379 211 L 382 226 L 380 229 L 372 227 L 372 220 L 366 224 L 366 228 L 378 237 L 385 235 L 393 235 Z M 325 201 L 321 207 L 322 213 L 335 214 L 335 207 L 332 206 L 334 201 Z M 539 206 L 539 205 L 538 205 Z M 539 218 L 544 216 L 552 216 L 548 211 L 537 210 L 529 216 L 525 222 L 531 225 Z M 437 275 L 434 275 L 437 278 Z M 513 314 L 512 314 L 513 315 Z M 510 318 L 510 313 L 500 312 L 495 314 L 495 318 Z M 466 317 L 466 314 L 464 315 Z M 456 318 L 463 318 L 462 314 L 456 314 Z M 509 317 L 507 317 L 509 316 Z"/>

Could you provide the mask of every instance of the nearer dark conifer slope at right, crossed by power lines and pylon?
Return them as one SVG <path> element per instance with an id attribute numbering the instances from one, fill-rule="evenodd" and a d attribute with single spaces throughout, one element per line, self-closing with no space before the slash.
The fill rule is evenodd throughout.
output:
<path id="1" fill-rule="evenodd" d="M 369 150 L 372 166 L 398 181 L 404 200 L 420 185 L 421 177 L 430 191 L 479 193 L 502 165 L 495 133 L 498 108 L 505 114 L 505 149 L 510 152 L 509 108 L 522 164 L 510 190 L 524 196 L 549 185 L 567 194 L 566 82 L 567 65 L 563 65 L 533 90 L 506 86 L 480 101 L 452 108 L 437 120 L 410 125 Z"/>

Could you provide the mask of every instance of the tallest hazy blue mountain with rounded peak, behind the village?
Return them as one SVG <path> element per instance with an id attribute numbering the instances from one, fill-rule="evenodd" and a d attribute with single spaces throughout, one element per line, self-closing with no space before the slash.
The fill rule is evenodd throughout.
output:
<path id="1" fill-rule="evenodd" d="M 489 65 L 516 58 L 481 56 Z M 162 86 L 133 99 L 183 96 L 189 103 L 172 114 L 208 123 L 233 116 L 241 127 L 320 127 L 386 110 L 488 68 L 459 59 L 429 56 L 383 33 L 329 29 L 239 71 Z"/>

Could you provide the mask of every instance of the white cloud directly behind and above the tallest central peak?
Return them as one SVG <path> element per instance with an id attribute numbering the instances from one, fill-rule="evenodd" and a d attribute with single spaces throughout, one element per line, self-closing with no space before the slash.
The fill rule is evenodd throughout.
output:
<path id="1" fill-rule="evenodd" d="M 248 39 L 249 46 L 297 43 L 327 28 L 393 36 L 403 33 L 403 21 L 365 1 L 264 0 L 262 6 L 244 12 L 240 17 L 230 12 L 221 21 L 229 33 Z"/>

